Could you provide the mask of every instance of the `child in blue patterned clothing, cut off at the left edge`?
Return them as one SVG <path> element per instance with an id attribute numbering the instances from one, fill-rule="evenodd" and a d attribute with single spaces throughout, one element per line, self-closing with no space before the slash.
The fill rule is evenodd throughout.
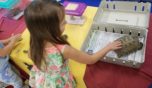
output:
<path id="1" fill-rule="evenodd" d="M 12 85 L 14 88 L 23 88 L 23 84 L 21 78 L 12 70 L 8 62 L 8 55 L 20 36 L 20 34 L 17 34 L 8 39 L 0 40 L 0 81 Z"/>

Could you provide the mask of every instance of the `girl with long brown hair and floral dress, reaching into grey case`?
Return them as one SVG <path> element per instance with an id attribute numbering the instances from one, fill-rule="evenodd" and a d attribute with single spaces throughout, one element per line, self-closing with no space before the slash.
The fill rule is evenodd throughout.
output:
<path id="1" fill-rule="evenodd" d="M 121 48 L 121 43 L 112 42 L 93 55 L 74 49 L 61 37 L 66 24 L 64 7 L 48 1 L 33 1 L 24 14 L 30 32 L 30 58 L 34 62 L 29 83 L 33 88 L 75 88 L 69 58 L 94 64 L 107 52 Z"/>

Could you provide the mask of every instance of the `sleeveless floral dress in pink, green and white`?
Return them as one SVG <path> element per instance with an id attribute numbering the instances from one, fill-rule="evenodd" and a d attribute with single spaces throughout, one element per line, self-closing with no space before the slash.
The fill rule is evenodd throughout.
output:
<path id="1" fill-rule="evenodd" d="M 76 84 L 69 71 L 68 61 L 61 53 L 65 45 L 46 48 L 46 70 L 41 71 L 35 65 L 30 71 L 29 84 L 32 88 L 75 88 Z M 60 51 L 59 51 L 60 50 Z"/>

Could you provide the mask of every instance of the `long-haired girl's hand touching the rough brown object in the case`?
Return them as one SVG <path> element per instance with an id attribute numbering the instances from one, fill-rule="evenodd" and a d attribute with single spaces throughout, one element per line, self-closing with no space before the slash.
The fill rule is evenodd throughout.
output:
<path id="1" fill-rule="evenodd" d="M 117 50 L 117 49 L 120 49 L 121 48 L 121 42 L 120 41 L 114 41 L 114 42 L 111 42 L 109 43 L 106 47 L 109 49 L 109 50 Z"/>

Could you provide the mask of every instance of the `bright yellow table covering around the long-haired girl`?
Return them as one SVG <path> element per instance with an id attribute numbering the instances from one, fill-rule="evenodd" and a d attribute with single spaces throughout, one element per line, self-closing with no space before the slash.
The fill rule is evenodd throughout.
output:
<path id="1" fill-rule="evenodd" d="M 70 42 L 71 46 L 80 50 L 82 44 L 88 34 L 88 31 L 91 27 L 93 17 L 97 11 L 97 7 L 90 7 L 88 6 L 84 12 L 84 17 L 86 18 L 86 22 L 83 25 L 66 25 L 66 30 L 64 34 L 68 35 L 68 41 Z M 29 73 L 28 66 L 25 63 L 31 65 L 33 64 L 32 61 L 28 58 L 28 54 L 25 52 L 29 49 L 29 32 L 26 29 L 22 35 L 23 40 L 20 44 L 14 48 L 11 53 L 12 60 L 21 67 L 26 73 Z M 75 62 L 73 60 L 69 61 L 70 69 L 76 78 L 77 81 L 77 88 L 86 88 L 83 77 L 86 69 L 85 64 L 81 64 Z"/>

